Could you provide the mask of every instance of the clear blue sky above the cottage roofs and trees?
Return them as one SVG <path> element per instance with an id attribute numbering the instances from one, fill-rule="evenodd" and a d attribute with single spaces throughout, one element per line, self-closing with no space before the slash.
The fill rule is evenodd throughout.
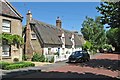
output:
<path id="1" fill-rule="evenodd" d="M 56 25 L 56 18 L 62 20 L 62 28 L 78 31 L 82 28 L 85 17 L 95 18 L 100 16 L 96 6 L 99 2 L 11 2 L 22 14 L 23 25 L 26 24 L 26 14 L 31 11 L 34 19 L 47 24 Z"/>

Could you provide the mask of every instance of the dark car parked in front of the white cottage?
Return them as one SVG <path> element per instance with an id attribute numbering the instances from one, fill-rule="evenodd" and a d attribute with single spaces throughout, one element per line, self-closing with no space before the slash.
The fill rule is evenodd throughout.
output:
<path id="1" fill-rule="evenodd" d="M 68 62 L 85 62 L 89 60 L 90 55 L 87 51 L 75 51 L 68 58 Z"/>

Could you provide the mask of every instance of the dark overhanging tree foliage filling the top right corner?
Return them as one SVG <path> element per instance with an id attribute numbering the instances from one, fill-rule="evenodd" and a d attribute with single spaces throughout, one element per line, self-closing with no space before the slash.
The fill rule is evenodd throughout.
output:
<path id="1" fill-rule="evenodd" d="M 108 24 L 111 28 L 120 28 L 120 1 L 102 2 L 96 9 L 102 14 L 103 24 Z"/>

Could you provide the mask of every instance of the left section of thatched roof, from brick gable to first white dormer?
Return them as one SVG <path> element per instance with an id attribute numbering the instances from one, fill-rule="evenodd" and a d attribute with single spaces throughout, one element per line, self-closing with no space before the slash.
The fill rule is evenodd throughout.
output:
<path id="1" fill-rule="evenodd" d="M 43 22 L 32 20 L 34 22 L 34 32 L 38 33 L 39 39 L 43 42 L 43 44 L 50 44 L 50 45 L 62 45 L 62 41 L 58 36 L 60 30 L 54 28 L 52 25 L 45 24 Z"/>

